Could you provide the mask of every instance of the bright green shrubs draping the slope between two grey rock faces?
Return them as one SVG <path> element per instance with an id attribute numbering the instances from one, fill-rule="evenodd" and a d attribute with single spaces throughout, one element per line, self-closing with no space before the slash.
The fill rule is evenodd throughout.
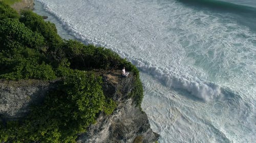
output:
<path id="1" fill-rule="evenodd" d="M 92 72 L 70 70 L 44 105 L 33 107 L 25 121 L 11 121 L 0 130 L 0 141 L 75 142 L 77 134 L 85 132 L 108 105 L 101 82 Z"/>

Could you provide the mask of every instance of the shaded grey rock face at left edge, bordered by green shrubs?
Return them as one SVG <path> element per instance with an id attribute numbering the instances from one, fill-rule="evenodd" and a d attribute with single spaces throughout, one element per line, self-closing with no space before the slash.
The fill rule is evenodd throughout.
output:
<path id="1" fill-rule="evenodd" d="M 0 80 L 0 118 L 21 118 L 29 111 L 28 106 L 39 104 L 53 83 L 41 80 Z"/>

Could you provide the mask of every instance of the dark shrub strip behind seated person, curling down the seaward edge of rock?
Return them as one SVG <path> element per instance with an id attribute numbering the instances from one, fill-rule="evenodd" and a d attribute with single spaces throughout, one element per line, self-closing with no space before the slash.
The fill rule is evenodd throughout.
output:
<path id="1" fill-rule="evenodd" d="M 92 68 L 121 69 L 125 66 L 127 71 L 132 71 L 135 76 L 135 86 L 130 97 L 140 107 L 143 99 L 143 86 L 139 77 L 139 70 L 131 62 L 120 58 L 120 56 L 103 47 L 83 45 L 81 42 L 68 40 L 64 44 L 65 57 L 73 69 L 86 70 Z"/>

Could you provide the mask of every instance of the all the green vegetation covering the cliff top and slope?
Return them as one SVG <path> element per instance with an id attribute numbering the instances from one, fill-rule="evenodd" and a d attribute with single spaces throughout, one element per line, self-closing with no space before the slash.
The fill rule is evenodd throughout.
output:
<path id="1" fill-rule="evenodd" d="M 99 112 L 110 115 L 116 108 L 103 95 L 102 79 L 93 69 L 122 66 L 135 77 L 130 97 L 140 107 L 142 84 L 130 62 L 103 47 L 63 40 L 53 23 L 31 11 L 19 15 L 0 2 L 0 79 L 58 79 L 56 89 L 24 119 L 0 120 L 0 142 L 75 142 Z"/>

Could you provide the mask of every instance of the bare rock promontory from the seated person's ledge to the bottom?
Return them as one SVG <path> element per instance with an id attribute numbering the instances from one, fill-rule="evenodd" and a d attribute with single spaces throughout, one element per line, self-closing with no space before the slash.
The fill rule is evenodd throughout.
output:
<path id="1" fill-rule="evenodd" d="M 103 81 L 104 94 L 118 106 L 110 116 L 101 113 L 97 123 L 80 135 L 77 142 L 155 142 L 159 135 L 150 128 L 146 113 L 128 97 L 134 88 L 133 76 L 120 77 L 120 73 L 112 72 L 105 74 Z"/>

